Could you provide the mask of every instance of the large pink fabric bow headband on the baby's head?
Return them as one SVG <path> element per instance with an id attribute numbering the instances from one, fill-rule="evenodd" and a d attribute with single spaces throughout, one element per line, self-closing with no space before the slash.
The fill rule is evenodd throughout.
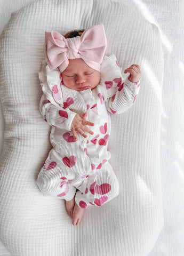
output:
<path id="1" fill-rule="evenodd" d="M 100 71 L 106 50 L 106 35 L 103 25 L 87 28 L 82 36 L 65 38 L 56 31 L 45 31 L 47 64 L 60 72 L 68 66 L 68 59 L 83 59 L 91 68 Z"/>

